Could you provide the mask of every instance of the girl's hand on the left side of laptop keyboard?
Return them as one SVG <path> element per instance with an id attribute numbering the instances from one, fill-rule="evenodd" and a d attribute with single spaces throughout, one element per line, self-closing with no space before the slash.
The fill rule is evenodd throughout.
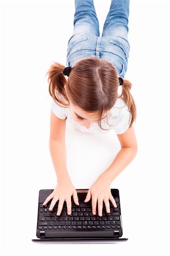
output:
<path id="1" fill-rule="evenodd" d="M 74 188 L 70 180 L 60 181 L 53 192 L 45 199 L 43 205 L 46 205 L 49 200 L 52 199 L 49 210 L 52 210 L 56 202 L 59 200 L 59 205 L 57 209 L 57 215 L 60 215 L 61 210 L 63 209 L 64 201 L 67 203 L 67 212 L 68 214 L 72 213 L 72 201 L 71 196 L 73 195 L 74 203 L 79 205 L 77 191 Z"/>

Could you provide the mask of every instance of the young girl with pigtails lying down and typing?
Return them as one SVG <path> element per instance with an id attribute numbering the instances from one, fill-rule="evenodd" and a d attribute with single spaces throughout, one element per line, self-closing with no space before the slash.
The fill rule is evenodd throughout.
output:
<path id="1" fill-rule="evenodd" d="M 89 188 L 85 202 L 92 198 L 92 212 L 102 216 L 103 202 L 110 212 L 110 184 L 135 158 L 137 143 L 132 123 L 136 106 L 131 96 L 131 82 L 124 80 L 130 45 L 128 33 L 129 0 L 111 1 L 109 13 L 99 36 L 99 24 L 93 0 L 75 0 L 74 30 L 68 41 L 67 66 L 51 65 L 48 71 L 49 93 L 52 97 L 49 148 L 57 175 L 57 185 L 45 199 L 52 199 L 49 210 L 59 200 L 57 215 L 67 203 L 71 214 L 78 196 L 66 166 L 65 122 L 85 133 L 117 133 L 121 150 L 113 163 Z M 68 76 L 68 79 L 66 79 Z M 121 85 L 122 92 L 118 90 Z"/>

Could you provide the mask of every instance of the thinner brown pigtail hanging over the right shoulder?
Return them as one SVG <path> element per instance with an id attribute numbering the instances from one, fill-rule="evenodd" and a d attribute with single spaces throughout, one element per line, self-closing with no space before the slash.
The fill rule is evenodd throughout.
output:
<path id="1" fill-rule="evenodd" d="M 131 86 L 132 86 L 131 82 L 124 79 L 122 84 L 122 93 L 119 96 L 119 98 L 123 96 L 123 100 L 128 106 L 128 110 L 131 112 L 132 118 L 131 118 L 130 127 L 132 126 L 132 123 L 136 120 L 136 104 L 135 104 L 134 98 L 130 93 Z"/>

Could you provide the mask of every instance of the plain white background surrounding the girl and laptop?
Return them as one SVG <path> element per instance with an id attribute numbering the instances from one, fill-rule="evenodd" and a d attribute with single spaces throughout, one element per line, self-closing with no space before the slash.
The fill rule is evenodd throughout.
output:
<path id="1" fill-rule="evenodd" d="M 53 189 L 49 154 L 53 61 L 65 65 L 74 1 L 1 1 L 1 255 L 169 255 L 169 1 L 130 0 L 125 79 L 137 105 L 136 158 L 113 181 L 121 197 L 120 244 L 40 245 L 38 194 Z M 111 1 L 94 0 L 102 33 Z M 68 171 L 89 188 L 113 161 L 119 142 L 67 126 Z"/>

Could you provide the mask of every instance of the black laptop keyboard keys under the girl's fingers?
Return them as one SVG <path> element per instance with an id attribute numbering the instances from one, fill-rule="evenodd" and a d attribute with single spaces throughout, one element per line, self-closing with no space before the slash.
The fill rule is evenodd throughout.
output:
<path id="1" fill-rule="evenodd" d="M 52 210 L 49 210 L 51 201 L 47 206 L 39 204 L 38 230 L 119 230 L 121 229 L 121 210 L 119 202 L 117 208 L 110 203 L 110 213 L 106 212 L 103 204 L 102 216 L 92 213 L 92 206 L 88 203 L 72 205 L 72 213 L 67 214 L 67 205 L 64 202 L 60 216 L 56 215 L 58 202 Z"/>

